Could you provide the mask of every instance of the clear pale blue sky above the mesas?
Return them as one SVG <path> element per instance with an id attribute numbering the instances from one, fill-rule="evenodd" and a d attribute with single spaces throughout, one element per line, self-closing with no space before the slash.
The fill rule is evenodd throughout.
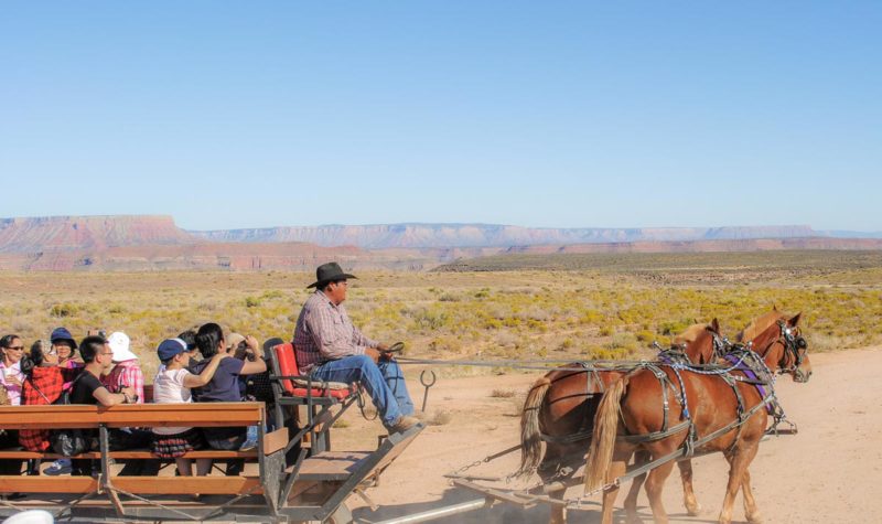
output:
<path id="1" fill-rule="evenodd" d="M 882 3 L 0 4 L 0 216 L 882 231 Z"/>

